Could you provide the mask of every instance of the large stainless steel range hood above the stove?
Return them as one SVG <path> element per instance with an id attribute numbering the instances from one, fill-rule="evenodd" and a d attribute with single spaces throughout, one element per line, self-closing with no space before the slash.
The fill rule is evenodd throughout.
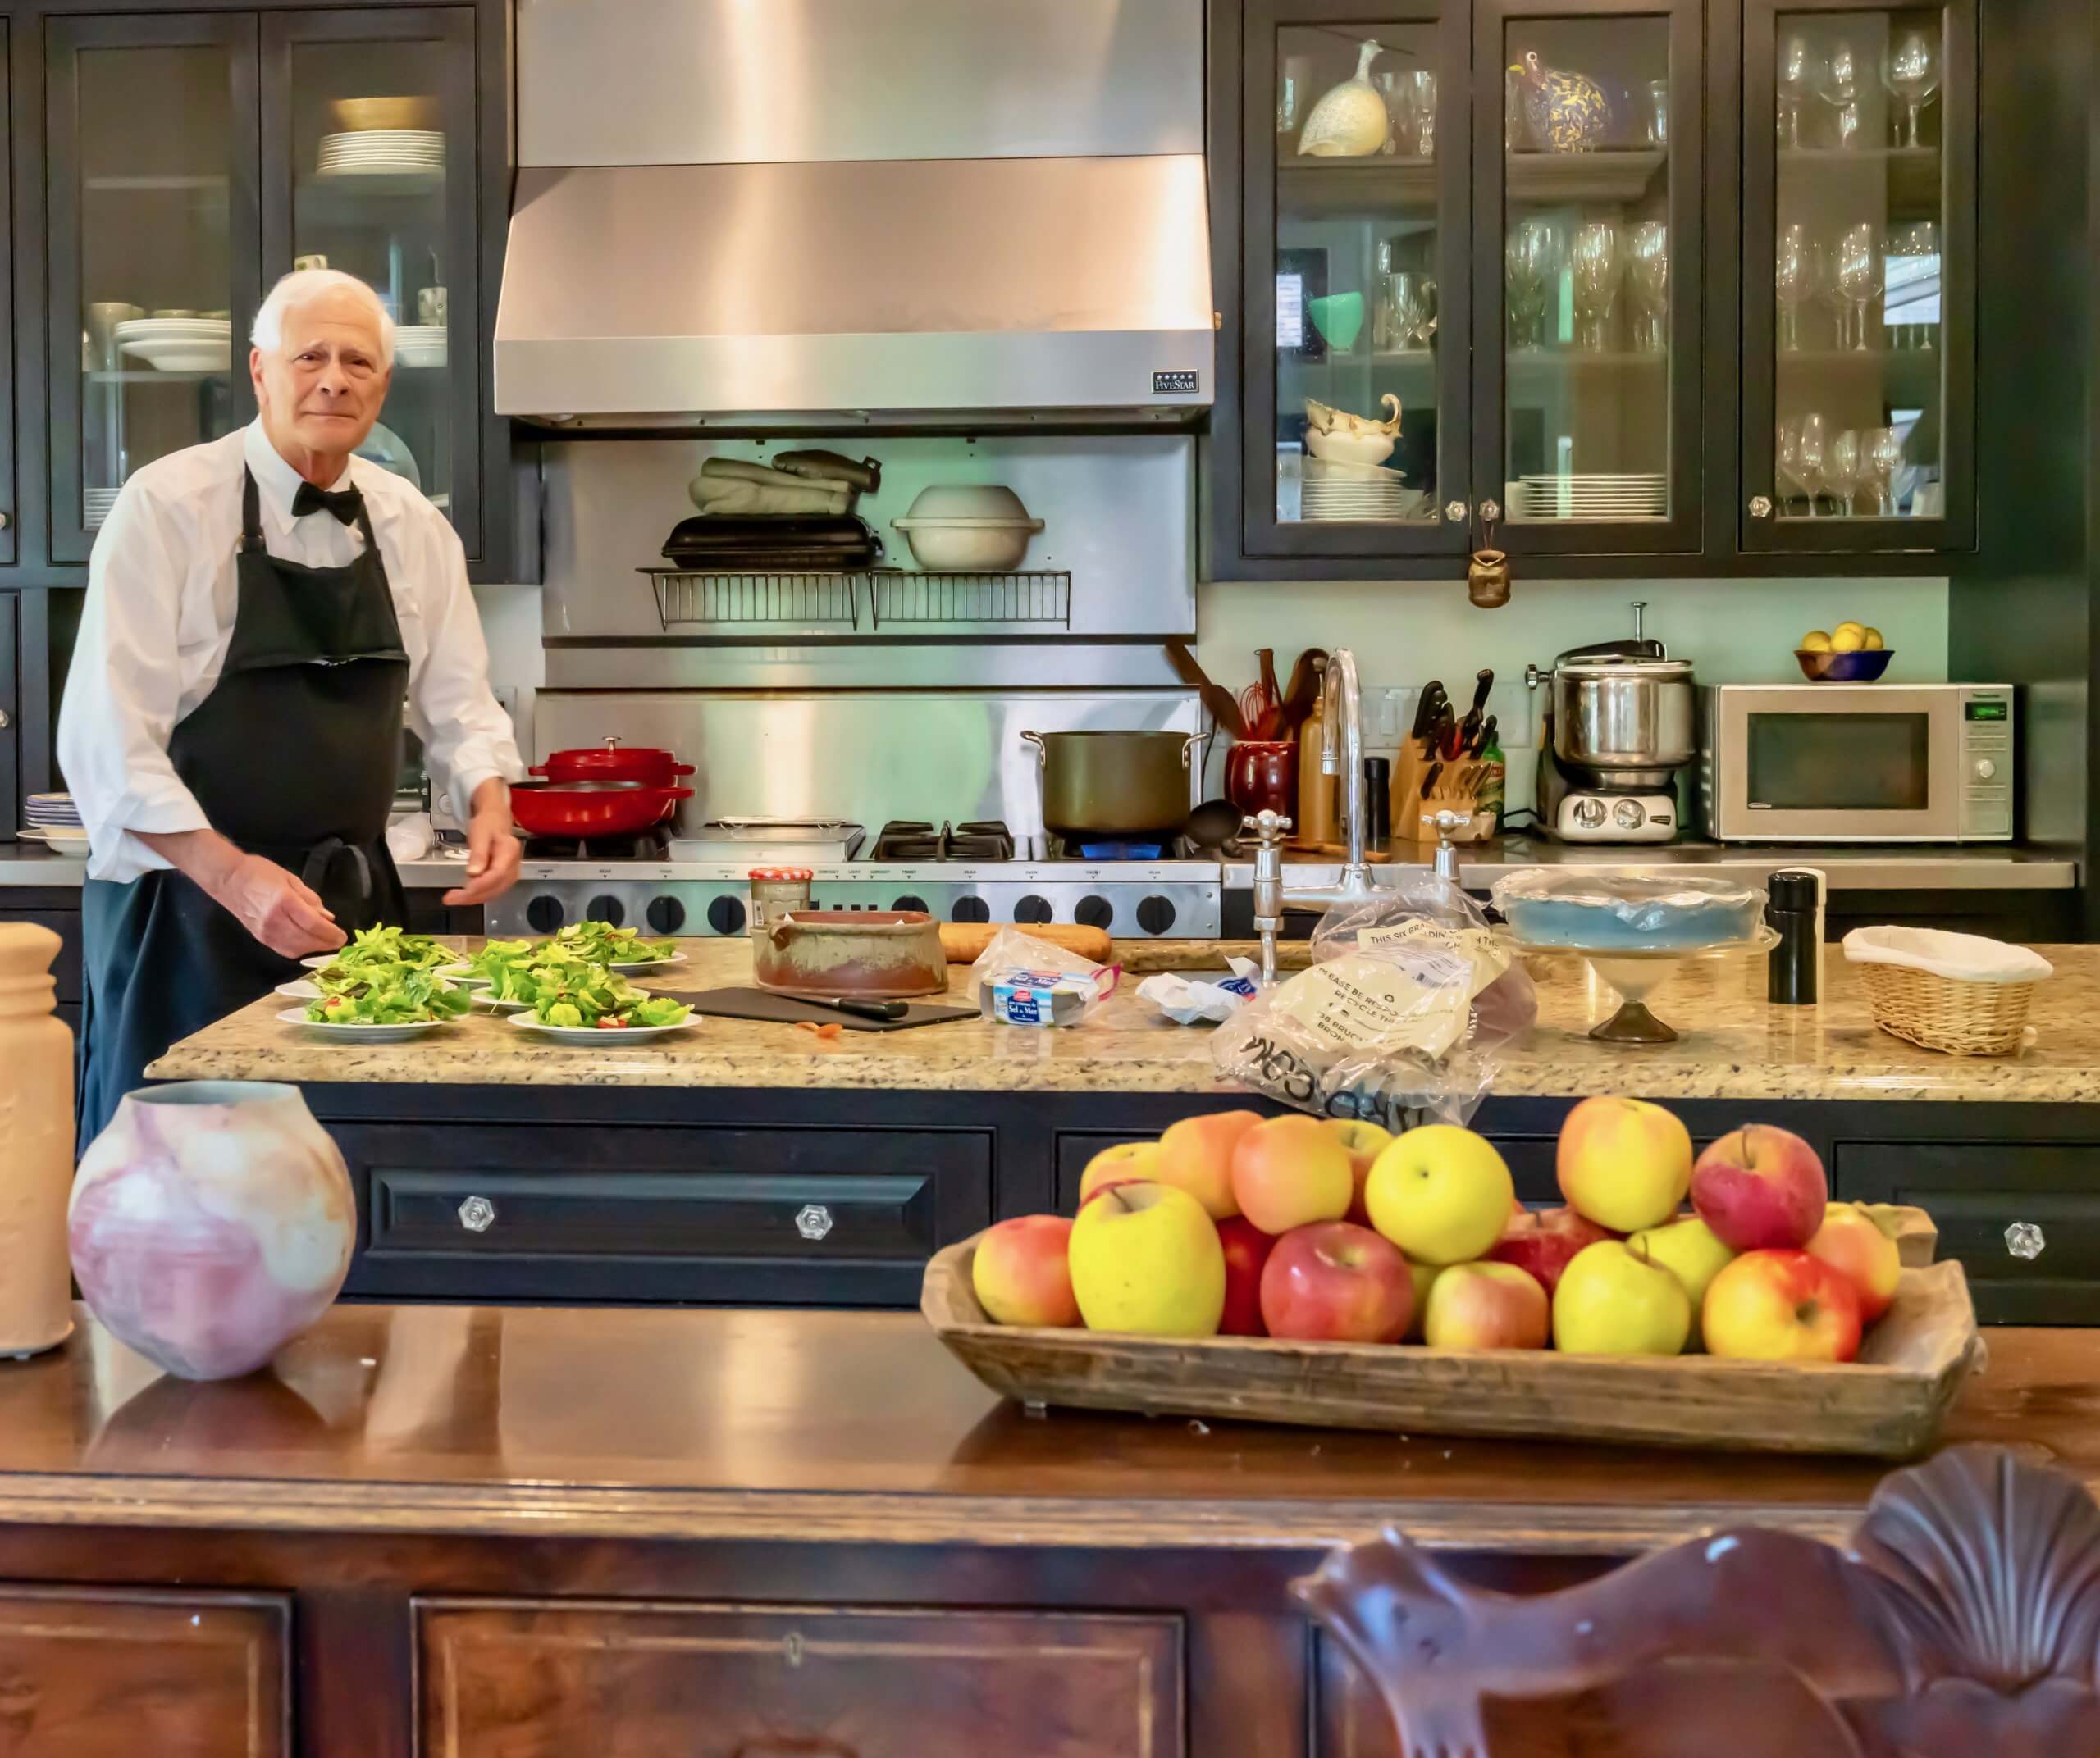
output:
<path id="1" fill-rule="evenodd" d="M 519 0 L 496 409 L 1186 424 L 1201 0 Z"/>

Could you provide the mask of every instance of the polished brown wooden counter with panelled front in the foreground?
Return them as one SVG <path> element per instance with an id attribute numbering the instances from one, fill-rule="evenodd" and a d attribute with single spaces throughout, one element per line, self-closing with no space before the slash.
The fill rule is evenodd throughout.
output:
<path id="1" fill-rule="evenodd" d="M 2100 1485 L 2096 1370 L 1993 1334 L 1947 1439 Z M 0 1364 L 0 1668 L 27 1758 L 1388 1758 L 1329 1546 L 1558 1586 L 1884 1471 L 1029 1418 L 916 1313 L 342 1305 L 220 1385 L 82 1313 Z"/>

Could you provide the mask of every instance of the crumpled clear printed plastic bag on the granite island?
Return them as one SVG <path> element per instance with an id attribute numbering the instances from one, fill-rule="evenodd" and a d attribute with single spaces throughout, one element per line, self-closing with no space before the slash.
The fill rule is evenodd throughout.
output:
<path id="1" fill-rule="evenodd" d="M 1531 978 L 1478 904 L 1407 871 L 1376 898 L 1327 910 L 1312 967 L 1222 1024 L 1212 1066 L 1319 1116 L 1392 1131 L 1466 1122 L 1537 1011 Z"/>

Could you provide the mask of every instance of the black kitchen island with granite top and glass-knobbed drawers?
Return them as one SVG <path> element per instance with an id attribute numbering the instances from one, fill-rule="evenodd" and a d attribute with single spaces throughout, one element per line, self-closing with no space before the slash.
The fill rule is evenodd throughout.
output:
<path id="1" fill-rule="evenodd" d="M 653 986 L 750 980 L 743 940 L 680 948 L 676 982 Z M 1147 969 L 1220 967 L 1247 948 L 1119 950 L 1121 990 L 1075 1030 L 966 1020 L 823 1041 L 706 1020 L 653 1043 L 565 1047 L 477 1015 L 424 1041 L 344 1047 L 279 1024 L 271 996 L 149 1072 L 307 1091 L 357 1183 L 357 1294 L 911 1305 L 932 1250 L 1006 1215 L 1069 1210 L 1102 1148 L 1235 1101 L 1273 1110 L 1218 1082 L 1208 1030 L 1136 996 Z M 1611 990 L 1575 959 L 1544 961 L 1539 1024 L 1474 1124 L 1527 1202 L 1554 1202 L 1573 1099 L 1659 1099 L 1701 1141 L 1779 1122 L 1816 1143 L 1840 1196 L 1932 1210 L 1987 1322 L 2090 1322 L 2100 948 L 2045 950 L 2058 976 L 2039 990 L 2035 1043 L 2003 1059 L 1877 1032 L 1835 948 L 1819 1007 L 1770 1005 L 1762 961 L 1680 967 L 1653 1005 L 1682 1038 L 1659 1047 L 1590 1038 Z M 951 976 L 960 994 L 966 973 Z M 2008 1252 L 2016 1221 L 2043 1229 L 2039 1259 Z"/>

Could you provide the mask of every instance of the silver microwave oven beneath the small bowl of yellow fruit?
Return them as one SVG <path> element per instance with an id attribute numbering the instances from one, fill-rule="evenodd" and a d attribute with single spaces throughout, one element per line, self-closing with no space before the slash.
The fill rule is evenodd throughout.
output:
<path id="1" fill-rule="evenodd" d="M 1699 797 L 1718 841 L 2012 839 L 2010 684 L 1720 684 L 1699 694 Z"/>

